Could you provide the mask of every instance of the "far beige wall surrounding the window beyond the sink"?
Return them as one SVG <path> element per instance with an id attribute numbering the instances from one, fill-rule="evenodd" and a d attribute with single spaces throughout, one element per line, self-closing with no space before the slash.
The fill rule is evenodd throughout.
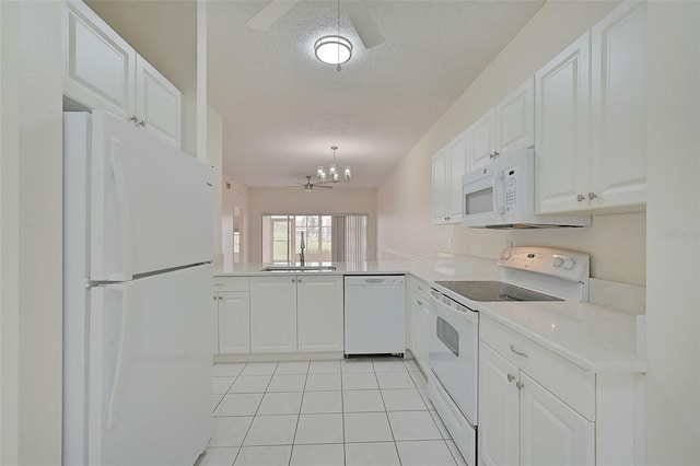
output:
<path id="1" fill-rule="evenodd" d="M 376 257 L 376 191 L 374 189 L 249 189 L 248 245 L 253 263 L 260 261 L 261 215 L 268 213 L 365 213 L 368 218 L 368 259 Z"/>

